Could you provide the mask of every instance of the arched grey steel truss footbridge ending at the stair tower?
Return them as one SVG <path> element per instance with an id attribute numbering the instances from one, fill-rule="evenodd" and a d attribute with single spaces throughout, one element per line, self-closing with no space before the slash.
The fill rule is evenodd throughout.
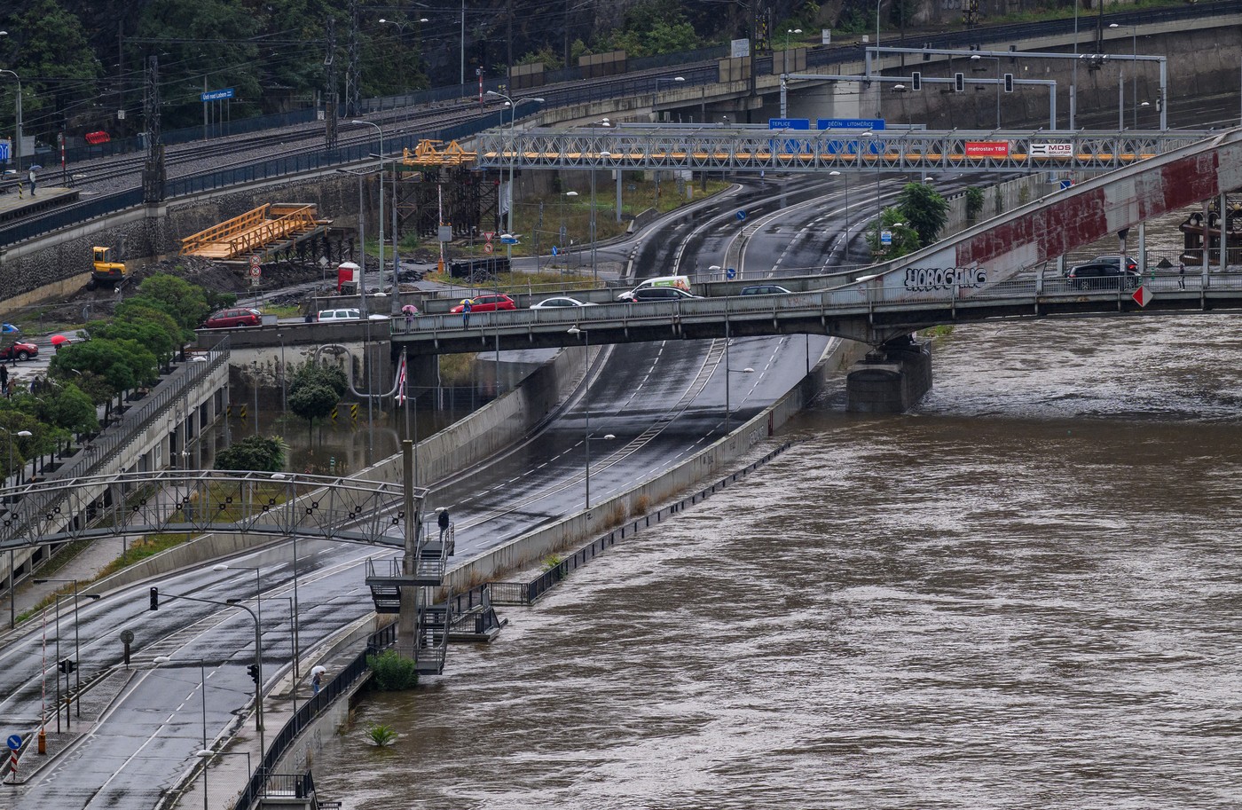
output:
<path id="1" fill-rule="evenodd" d="M 415 516 L 426 489 L 412 487 Z M 401 547 L 401 482 L 168 470 L 0 489 L 0 549 L 98 537 L 209 532 Z M 417 517 L 415 517 L 417 521 Z"/>

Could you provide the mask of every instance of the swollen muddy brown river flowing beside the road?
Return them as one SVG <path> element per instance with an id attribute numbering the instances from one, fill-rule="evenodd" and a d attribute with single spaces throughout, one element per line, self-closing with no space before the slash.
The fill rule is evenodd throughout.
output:
<path id="1" fill-rule="evenodd" d="M 1242 328 L 959 327 L 325 738 L 343 808 L 1236 808 Z M 386 723 L 390 748 L 366 743 Z"/>

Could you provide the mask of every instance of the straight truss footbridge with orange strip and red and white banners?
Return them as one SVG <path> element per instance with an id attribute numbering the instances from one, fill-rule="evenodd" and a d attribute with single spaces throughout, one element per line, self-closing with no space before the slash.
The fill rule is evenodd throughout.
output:
<path id="1" fill-rule="evenodd" d="M 790 130 L 756 127 L 493 129 L 479 168 L 692 171 L 1110 171 L 1176 152 L 1199 130 Z"/>

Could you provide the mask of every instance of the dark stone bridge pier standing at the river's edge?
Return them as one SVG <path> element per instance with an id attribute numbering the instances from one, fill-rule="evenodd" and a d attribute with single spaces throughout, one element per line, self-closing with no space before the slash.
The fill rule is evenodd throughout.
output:
<path id="1" fill-rule="evenodd" d="M 846 375 L 846 410 L 900 414 L 932 390 L 930 342 L 914 335 L 872 349 Z"/>

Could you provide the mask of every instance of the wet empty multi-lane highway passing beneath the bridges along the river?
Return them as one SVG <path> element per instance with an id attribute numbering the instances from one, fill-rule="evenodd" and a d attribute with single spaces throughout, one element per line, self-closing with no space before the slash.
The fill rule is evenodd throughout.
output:
<path id="1" fill-rule="evenodd" d="M 776 188 L 785 196 L 763 201 Z M 668 220 L 616 250 L 635 257 L 635 266 L 643 268 L 641 276 L 676 272 L 688 262 L 720 263 L 730 248 L 735 255 L 743 250 L 733 243 L 741 236 L 734 210 L 746 205 L 748 219 L 763 217 L 764 224 L 746 234 L 741 253 L 746 277 L 760 277 L 777 265 L 820 266 L 823 240 L 832 239 L 830 231 L 843 214 L 842 193 L 838 183 L 806 179 L 740 186 L 735 198 L 704 205 L 692 217 Z M 851 204 L 862 210 L 866 195 L 851 194 Z M 818 236 L 791 239 L 809 225 Z M 467 559 L 585 506 L 587 420 L 595 437 L 590 441 L 591 502 L 597 503 L 719 439 L 725 429 L 727 383 L 729 421 L 735 426 L 796 384 L 809 358 L 817 358 L 826 344 L 822 337 L 776 337 L 733 339 L 728 350 L 724 340 L 599 349 L 590 369 L 584 369 L 590 384 L 580 386 L 543 430 L 489 463 L 433 485 L 426 504 L 450 508 L 457 559 Z M 298 543 L 297 625 L 303 653 L 371 611 L 364 562 L 395 553 L 343 543 Z M 258 568 L 263 675 L 266 687 L 272 688 L 291 666 L 292 555 L 291 543 L 277 544 L 229 560 L 227 570 L 202 567 L 152 584 L 165 595 L 216 603 L 241 598 L 253 608 L 256 578 L 250 569 Z M 73 611 L 63 599 L 61 606 L 60 653 L 70 657 Z M 112 676 L 124 685 L 88 735 L 10 793 L 14 808 L 150 810 L 196 762 L 204 737 L 210 745 L 231 732 L 251 739 L 257 735 L 253 718 L 246 718 L 253 694 L 246 666 L 255 644 L 247 612 L 166 598 L 153 612 L 144 584 L 98 601 L 81 600 L 78 617 L 82 675 L 109 668 L 124 672 L 118 636 L 125 629 L 135 636 L 129 675 Z M 0 651 L 0 693 L 6 696 L 0 701 L 0 727 L 10 732 L 37 724 L 45 701 L 43 637 L 42 627 L 31 627 Z M 47 667 L 55 673 L 55 627 L 46 630 L 46 640 Z M 170 662 L 156 665 L 156 656 Z M 47 706 L 55 697 L 53 683 L 47 682 Z M 55 723 L 48 726 L 55 729 Z M 277 730 L 270 727 L 266 735 Z"/>

